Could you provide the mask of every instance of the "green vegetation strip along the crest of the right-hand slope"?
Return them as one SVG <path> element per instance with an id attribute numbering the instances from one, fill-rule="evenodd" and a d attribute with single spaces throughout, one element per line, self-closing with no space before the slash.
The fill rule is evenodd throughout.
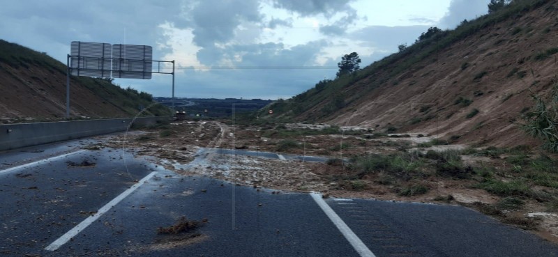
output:
<path id="1" fill-rule="evenodd" d="M 278 121 L 292 120 L 293 118 L 303 118 L 310 122 L 320 120 L 334 114 L 335 111 L 346 107 L 349 103 L 365 95 L 366 92 L 372 91 L 372 89 L 382 84 L 386 84 L 389 81 L 393 85 L 397 84 L 397 81 L 393 81 L 395 77 L 429 56 L 436 56 L 435 53 L 439 49 L 459 42 L 481 31 L 481 29 L 485 29 L 498 22 L 521 17 L 530 10 L 541 7 L 548 2 L 549 0 L 515 0 L 488 15 L 478 17 L 476 20 L 464 20 L 452 31 L 442 31 L 435 27 L 430 28 L 413 45 L 400 47 L 400 52 L 386 56 L 384 59 L 376 61 L 350 75 L 341 76 L 334 80 L 319 81 L 315 88 L 310 88 L 308 91 L 296 95 L 292 99 L 280 100 L 271 104 L 268 108 L 260 111 L 259 116 L 263 116 L 265 111 L 273 109 L 274 113 L 277 114 L 273 117 L 278 119 Z M 538 58 L 545 58 L 552 54 L 555 54 L 555 52 L 544 52 Z M 462 69 L 466 68 L 467 65 L 465 67 L 462 66 Z M 344 88 L 366 78 L 368 78 L 368 81 L 361 83 L 363 88 L 361 88 L 361 92 L 358 95 L 345 95 L 343 93 Z M 320 107 L 316 108 L 317 106 Z M 306 112 L 312 112 L 312 115 L 302 115 Z"/>

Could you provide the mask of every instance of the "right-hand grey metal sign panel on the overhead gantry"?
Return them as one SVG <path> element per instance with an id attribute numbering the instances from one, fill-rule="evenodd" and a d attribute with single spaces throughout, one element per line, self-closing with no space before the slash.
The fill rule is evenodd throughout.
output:
<path id="1" fill-rule="evenodd" d="M 112 77 L 151 79 L 152 60 L 149 45 L 112 45 Z"/>

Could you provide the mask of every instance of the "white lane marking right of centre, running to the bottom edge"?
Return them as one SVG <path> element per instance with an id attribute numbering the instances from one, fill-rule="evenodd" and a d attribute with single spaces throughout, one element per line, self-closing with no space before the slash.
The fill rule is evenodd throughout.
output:
<path id="1" fill-rule="evenodd" d="M 370 249 L 366 247 L 366 245 L 362 242 L 362 240 L 354 234 L 351 228 L 349 228 L 349 226 L 345 224 L 345 221 L 343 221 L 337 215 L 337 213 L 335 213 L 335 211 L 333 211 L 333 209 L 329 207 L 326 201 L 322 199 L 322 194 L 310 193 L 310 196 L 314 198 L 314 201 L 316 201 L 319 207 L 322 208 L 322 210 L 326 213 L 327 217 L 329 217 L 329 219 L 331 219 L 333 224 L 337 226 L 339 231 L 341 231 L 343 236 L 347 238 L 347 241 L 349 241 L 349 243 L 356 250 L 356 252 L 359 253 L 361 257 L 376 257 L 374 254 L 372 254 L 372 251 L 370 251 Z"/>

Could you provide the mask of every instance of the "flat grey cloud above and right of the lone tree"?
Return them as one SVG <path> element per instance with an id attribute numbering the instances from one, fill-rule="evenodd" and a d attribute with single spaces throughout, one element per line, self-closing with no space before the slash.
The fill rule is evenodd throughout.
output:
<path id="1" fill-rule="evenodd" d="M 350 33 L 348 38 L 368 42 L 371 47 L 396 52 L 400 44 L 412 45 L 430 26 L 368 26 Z"/>

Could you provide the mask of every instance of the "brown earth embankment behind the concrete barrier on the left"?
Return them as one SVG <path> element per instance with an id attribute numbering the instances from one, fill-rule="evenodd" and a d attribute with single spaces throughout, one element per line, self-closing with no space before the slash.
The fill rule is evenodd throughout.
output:
<path id="1" fill-rule="evenodd" d="M 70 114 L 128 117 L 149 106 L 151 95 L 123 89 L 105 79 L 71 77 Z M 47 54 L 0 40 L 0 120 L 56 119 L 66 114 L 66 65 Z M 168 114 L 155 107 L 148 114 Z"/>

